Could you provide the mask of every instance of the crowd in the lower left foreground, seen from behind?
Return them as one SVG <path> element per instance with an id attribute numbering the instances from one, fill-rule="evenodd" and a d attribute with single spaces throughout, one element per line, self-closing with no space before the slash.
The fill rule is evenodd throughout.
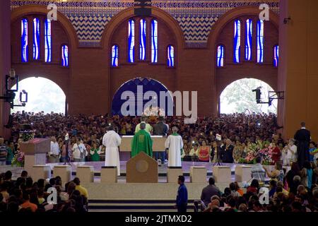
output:
<path id="1" fill-rule="evenodd" d="M 56 200 L 50 198 L 56 191 Z M 51 195 L 52 196 L 52 195 Z M 28 172 L 12 179 L 12 172 L 0 174 L 0 213 L 85 213 L 88 211 L 88 191 L 78 177 L 62 186 L 61 177 L 33 181 Z"/>

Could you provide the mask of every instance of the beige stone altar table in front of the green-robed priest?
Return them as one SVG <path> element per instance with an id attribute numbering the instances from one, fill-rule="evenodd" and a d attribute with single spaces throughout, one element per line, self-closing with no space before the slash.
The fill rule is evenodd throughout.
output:
<path id="1" fill-rule="evenodd" d="M 131 152 L 131 140 L 134 136 L 122 136 L 122 143 L 119 146 L 119 150 L 122 152 Z M 165 151 L 165 136 L 151 136 L 153 140 L 153 152 Z"/>

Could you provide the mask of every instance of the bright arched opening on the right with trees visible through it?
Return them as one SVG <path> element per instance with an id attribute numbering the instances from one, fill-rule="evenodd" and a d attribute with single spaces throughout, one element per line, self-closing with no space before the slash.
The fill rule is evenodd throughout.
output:
<path id="1" fill-rule="evenodd" d="M 269 91 L 274 91 L 268 83 L 255 78 L 242 78 L 228 85 L 220 95 L 220 114 L 232 113 L 274 113 L 277 114 L 277 100 L 268 104 L 257 104 L 252 91 L 261 87 L 261 101 L 268 102 Z"/>

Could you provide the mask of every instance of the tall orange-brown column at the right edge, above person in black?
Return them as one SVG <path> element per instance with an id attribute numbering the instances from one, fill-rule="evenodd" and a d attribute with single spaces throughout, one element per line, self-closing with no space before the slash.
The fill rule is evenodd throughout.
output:
<path id="1" fill-rule="evenodd" d="M 278 101 L 278 124 L 292 138 L 305 121 L 317 141 L 318 1 L 281 0 L 279 7 L 278 90 L 285 91 L 285 100 Z"/>

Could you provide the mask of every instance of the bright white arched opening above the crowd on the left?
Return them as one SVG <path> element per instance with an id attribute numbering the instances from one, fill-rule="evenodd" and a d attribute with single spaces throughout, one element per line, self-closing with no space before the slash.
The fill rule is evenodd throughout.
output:
<path id="1" fill-rule="evenodd" d="M 13 86 L 16 89 L 16 85 Z M 66 95 L 64 91 L 47 78 L 30 77 L 25 78 L 18 84 L 18 92 L 14 100 L 19 105 L 19 95 L 22 90 L 28 92 L 28 102 L 25 107 L 14 107 L 11 113 L 18 111 L 66 113 Z"/>

